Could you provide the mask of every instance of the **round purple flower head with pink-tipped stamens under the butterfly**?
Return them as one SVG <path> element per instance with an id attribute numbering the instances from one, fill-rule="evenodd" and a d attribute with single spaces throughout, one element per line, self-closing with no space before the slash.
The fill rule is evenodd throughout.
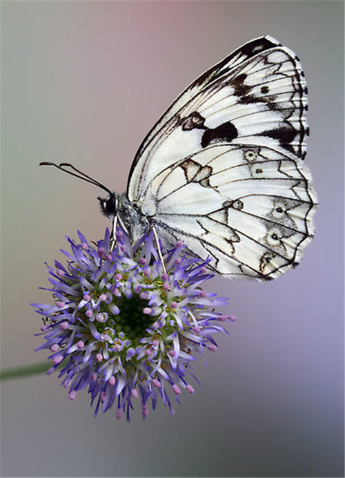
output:
<path id="1" fill-rule="evenodd" d="M 217 349 L 213 333 L 226 332 L 217 322 L 234 320 L 213 311 L 225 298 L 200 287 L 212 277 L 208 260 L 188 257 L 179 241 L 164 267 L 152 231 L 135 245 L 121 229 L 97 245 L 78 234 L 78 243 L 66 237 L 67 265 L 47 266 L 54 304 L 32 304 L 44 317 L 37 350 L 51 352 L 48 374 L 59 367 L 71 400 L 88 387 L 95 415 L 115 405 L 129 421 L 139 398 L 145 418 L 159 396 L 174 414 L 170 397 L 194 393 L 190 362 Z"/>

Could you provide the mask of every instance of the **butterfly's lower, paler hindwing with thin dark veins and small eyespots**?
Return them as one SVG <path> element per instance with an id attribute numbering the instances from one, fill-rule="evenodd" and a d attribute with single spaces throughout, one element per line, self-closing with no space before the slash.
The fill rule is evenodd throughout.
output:
<path id="1" fill-rule="evenodd" d="M 282 149 L 217 144 L 161 171 L 144 204 L 166 245 L 183 238 L 223 275 L 273 278 L 313 234 L 309 180 Z"/>

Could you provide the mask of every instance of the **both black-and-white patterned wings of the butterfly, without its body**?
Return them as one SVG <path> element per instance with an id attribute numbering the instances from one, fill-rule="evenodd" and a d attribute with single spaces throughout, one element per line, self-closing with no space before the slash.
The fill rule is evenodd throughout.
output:
<path id="1" fill-rule="evenodd" d="M 317 198 L 306 155 L 307 88 L 296 55 L 272 37 L 201 75 L 148 133 L 128 200 L 165 247 L 226 276 L 270 279 L 297 265 Z"/>

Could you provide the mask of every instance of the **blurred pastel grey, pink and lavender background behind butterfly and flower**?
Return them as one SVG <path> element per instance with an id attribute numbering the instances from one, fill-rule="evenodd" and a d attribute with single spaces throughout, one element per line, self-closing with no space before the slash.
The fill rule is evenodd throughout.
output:
<path id="1" fill-rule="evenodd" d="M 230 336 L 197 363 L 202 386 L 175 417 L 95 419 L 56 376 L 1 385 L 1 472 L 17 477 L 340 477 L 343 469 L 342 1 L 2 3 L 1 367 L 33 352 L 48 300 L 43 262 L 77 229 L 99 239 L 99 191 L 40 161 L 73 162 L 122 192 L 141 140 L 173 99 L 244 42 L 269 34 L 301 58 L 310 90 L 306 162 L 315 240 L 262 285 L 214 279 Z"/>

